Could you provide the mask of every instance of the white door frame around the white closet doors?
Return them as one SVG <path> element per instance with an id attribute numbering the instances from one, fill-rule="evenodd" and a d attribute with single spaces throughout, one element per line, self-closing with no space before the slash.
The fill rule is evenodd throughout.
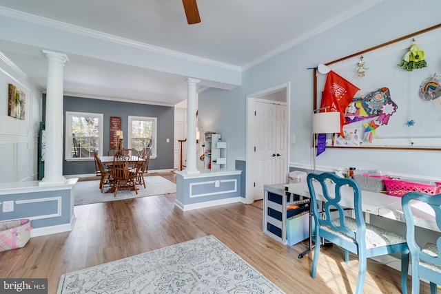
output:
<path id="1" fill-rule="evenodd" d="M 289 131 L 289 114 L 290 114 L 290 107 L 289 107 L 289 92 L 290 92 L 290 82 L 283 83 L 280 85 L 276 85 L 274 87 L 269 87 L 264 90 L 260 90 L 258 92 L 254 92 L 251 94 L 247 94 L 247 123 L 246 123 L 246 129 L 247 129 L 247 140 L 246 140 L 246 167 L 245 167 L 245 203 L 251 204 L 254 202 L 254 195 L 251 193 L 253 189 L 253 179 L 254 179 L 254 172 L 253 172 L 253 160 L 254 160 L 254 104 L 256 101 L 267 101 L 263 100 L 263 96 L 267 96 L 269 94 L 273 94 L 276 92 L 280 92 L 282 90 L 286 90 L 286 103 L 287 103 L 287 116 L 286 116 L 286 123 L 287 123 L 287 136 L 291 134 Z M 287 173 L 289 172 L 289 140 L 285 140 L 286 149 L 288 151 L 287 154 Z"/>

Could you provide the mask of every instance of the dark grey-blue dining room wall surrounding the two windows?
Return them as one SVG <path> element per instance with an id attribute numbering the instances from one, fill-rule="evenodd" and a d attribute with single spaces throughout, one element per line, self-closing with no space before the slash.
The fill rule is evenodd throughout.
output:
<path id="1" fill-rule="evenodd" d="M 43 109 L 45 109 L 45 95 L 43 95 Z M 158 137 L 156 138 L 157 152 L 156 158 L 150 159 L 149 170 L 173 169 L 174 107 L 64 96 L 64 117 L 65 112 L 91 112 L 103 114 L 104 154 L 107 154 L 107 149 L 110 147 L 110 116 L 121 117 L 121 128 L 124 134 L 127 134 L 128 116 L 156 117 L 158 123 Z M 45 119 L 45 116 L 43 116 L 43 119 Z M 64 129 L 65 122 L 63 123 L 63 130 Z M 167 143 L 167 138 L 170 139 L 169 143 Z M 63 144 L 64 142 L 65 140 L 63 136 Z M 124 145 L 127 147 L 127 142 L 124 142 Z M 63 158 L 63 175 L 93 174 L 94 172 L 95 165 L 93 160 L 66 161 Z"/>

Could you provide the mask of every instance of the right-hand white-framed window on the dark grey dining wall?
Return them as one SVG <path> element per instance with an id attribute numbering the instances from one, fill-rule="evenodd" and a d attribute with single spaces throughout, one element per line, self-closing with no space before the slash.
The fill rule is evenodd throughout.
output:
<path id="1" fill-rule="evenodd" d="M 156 118 L 129 116 L 127 147 L 138 151 L 150 148 L 150 158 L 156 157 L 156 121 Z"/>

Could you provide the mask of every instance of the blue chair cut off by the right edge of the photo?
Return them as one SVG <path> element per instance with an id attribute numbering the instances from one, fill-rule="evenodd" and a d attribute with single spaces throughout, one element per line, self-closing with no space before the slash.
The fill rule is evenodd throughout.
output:
<path id="1" fill-rule="evenodd" d="M 436 284 L 441 284 L 441 237 L 435 243 L 428 243 L 421 249 L 415 240 L 415 224 L 411 204 L 417 200 L 429 204 L 435 213 L 436 224 L 441 230 L 441 194 L 431 196 L 420 192 L 409 192 L 401 200 L 404 218 L 406 219 L 406 238 L 411 251 L 412 262 L 412 293 L 420 293 L 420 277 L 429 280 L 431 294 L 436 293 Z M 425 213 L 432 212 L 429 207 Z"/>

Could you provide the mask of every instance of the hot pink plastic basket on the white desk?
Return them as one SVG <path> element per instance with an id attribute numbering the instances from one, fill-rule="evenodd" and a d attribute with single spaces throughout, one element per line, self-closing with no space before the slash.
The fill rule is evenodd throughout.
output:
<path id="1" fill-rule="evenodd" d="M 384 185 L 386 186 L 387 193 L 392 196 L 402 197 L 405 193 L 411 191 L 418 191 L 427 193 L 429 195 L 435 195 L 440 193 L 440 185 L 433 186 L 430 184 L 424 184 L 420 182 L 407 182 L 405 180 L 396 180 L 393 178 L 384 178 Z"/>

